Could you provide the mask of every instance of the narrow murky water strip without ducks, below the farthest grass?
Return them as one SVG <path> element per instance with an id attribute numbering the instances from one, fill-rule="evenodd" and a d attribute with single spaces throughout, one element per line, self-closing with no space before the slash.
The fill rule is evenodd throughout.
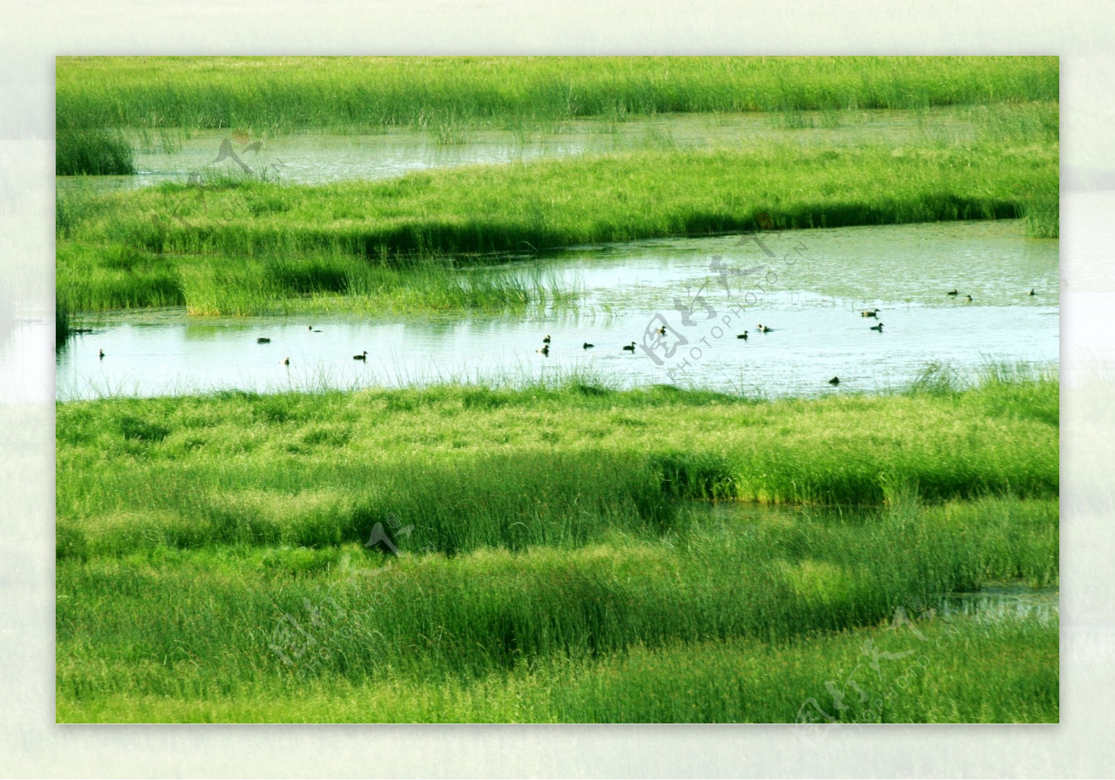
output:
<path id="1" fill-rule="evenodd" d="M 462 143 L 440 143 L 435 132 L 390 128 L 376 135 L 299 134 L 236 141 L 227 129 L 196 131 L 188 138 L 169 131 L 176 143 L 167 151 L 158 133 L 142 139 L 127 131 L 138 173 L 132 176 L 58 176 L 59 191 L 72 189 L 117 190 L 185 181 L 198 173 L 239 174 L 249 168 L 259 175 L 289 183 L 340 180 L 390 179 L 413 171 L 540 157 L 599 154 L 629 148 L 697 148 L 760 146 L 772 143 L 864 144 L 924 143 L 928 134 L 970 137 L 972 125 L 948 108 L 931 112 L 842 112 L 838 125 L 822 126 L 823 117 L 807 113 L 816 127 L 779 128 L 776 115 L 766 114 L 663 114 L 623 122 L 578 119 L 552 123 L 526 131 L 476 129 Z M 232 142 L 235 157 L 221 157 L 221 143 Z M 259 148 L 254 144 L 261 141 Z M 146 150 L 146 151 L 144 151 Z M 239 160 L 239 163 L 237 163 Z"/>

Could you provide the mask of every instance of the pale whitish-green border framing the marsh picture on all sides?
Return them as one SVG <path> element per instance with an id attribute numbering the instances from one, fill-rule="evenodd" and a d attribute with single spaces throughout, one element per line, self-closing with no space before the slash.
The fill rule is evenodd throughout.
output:
<path id="1" fill-rule="evenodd" d="M 602 3 L 601 3 L 602 4 Z M 0 4 L 0 315 L 49 318 L 54 57 L 78 54 L 1061 56 L 1061 725 L 59 726 L 54 363 L 0 365 L 0 774 L 1111 777 L 1115 690 L 1115 6 L 1011 0 Z M 0 321 L 2 317 L 0 317 Z M 49 334 L 49 328 L 42 330 Z"/>

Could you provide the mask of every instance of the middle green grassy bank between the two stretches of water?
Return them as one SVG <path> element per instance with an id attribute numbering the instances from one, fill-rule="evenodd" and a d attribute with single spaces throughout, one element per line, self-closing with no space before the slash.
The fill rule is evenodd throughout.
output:
<path id="1" fill-rule="evenodd" d="M 1040 213 L 1055 232 L 1057 143 L 1029 141 L 641 151 L 387 182 L 60 196 L 58 289 L 70 310 L 498 309 L 568 291 L 463 280 L 446 258 L 754 230 L 760 213 L 788 229 Z"/>

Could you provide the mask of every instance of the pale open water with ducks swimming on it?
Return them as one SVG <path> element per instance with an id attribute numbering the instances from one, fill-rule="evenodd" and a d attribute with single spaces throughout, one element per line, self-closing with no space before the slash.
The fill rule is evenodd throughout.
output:
<path id="1" fill-rule="evenodd" d="M 737 235 L 586 247 L 531 261 L 583 291 L 575 312 L 114 314 L 57 353 L 57 393 L 395 386 L 580 372 L 621 386 L 676 383 L 775 397 L 901 387 L 933 362 L 964 373 L 990 360 L 1058 360 L 1058 242 L 1026 240 L 1017 221 L 807 230 L 762 240 L 765 249 Z M 959 296 L 944 295 L 953 288 Z M 878 319 L 861 317 L 869 307 L 881 309 Z M 872 331 L 879 321 L 883 333 Z M 757 333 L 758 322 L 773 330 Z M 659 327 L 667 329 L 662 338 Z M 748 339 L 737 339 L 745 329 Z M 549 356 L 535 352 L 545 335 Z M 271 341 L 256 344 L 258 337 Z M 585 341 L 594 348 L 583 349 Z M 622 350 L 631 341 L 634 352 Z M 363 350 L 367 362 L 352 359 Z"/>

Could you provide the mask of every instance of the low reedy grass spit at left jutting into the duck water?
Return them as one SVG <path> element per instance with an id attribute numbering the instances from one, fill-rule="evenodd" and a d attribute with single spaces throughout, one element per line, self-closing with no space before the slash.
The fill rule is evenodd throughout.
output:
<path id="1" fill-rule="evenodd" d="M 59 242 L 68 311 L 184 306 L 191 315 L 525 312 L 575 306 L 579 291 L 537 270 L 468 270 L 450 260 L 369 262 L 342 252 L 165 254 Z"/>

